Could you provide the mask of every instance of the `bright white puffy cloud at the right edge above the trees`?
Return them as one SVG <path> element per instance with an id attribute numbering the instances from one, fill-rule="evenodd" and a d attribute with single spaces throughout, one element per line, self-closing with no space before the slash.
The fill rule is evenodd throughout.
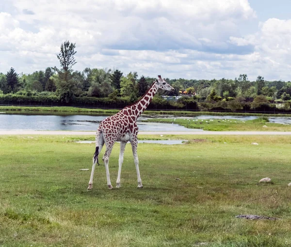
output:
<path id="1" fill-rule="evenodd" d="M 243 56 L 245 62 L 251 62 L 253 74 L 270 80 L 290 80 L 291 19 L 270 18 L 259 23 L 257 33 L 244 38 L 230 37 L 230 42 L 254 46 L 255 52 L 251 56 Z"/>

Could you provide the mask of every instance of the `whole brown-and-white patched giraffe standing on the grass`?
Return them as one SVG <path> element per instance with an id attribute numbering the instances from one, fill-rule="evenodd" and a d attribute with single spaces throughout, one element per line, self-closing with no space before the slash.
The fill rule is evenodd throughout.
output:
<path id="1" fill-rule="evenodd" d="M 125 150 L 125 146 L 129 141 L 132 148 L 132 154 L 134 158 L 134 164 L 137 173 L 137 183 L 138 188 L 142 188 L 142 180 L 139 171 L 139 162 L 137 156 L 137 134 L 138 134 L 138 126 L 136 124 L 136 120 L 138 117 L 145 111 L 149 103 L 151 102 L 154 95 L 157 93 L 158 89 L 166 90 L 166 91 L 174 91 L 174 88 L 171 87 L 165 79 L 162 79 L 161 76 L 158 76 L 149 90 L 145 93 L 145 95 L 137 102 L 123 108 L 121 111 L 116 113 L 113 116 L 105 118 L 98 126 L 96 133 L 96 150 L 93 156 L 93 166 L 89 181 L 88 189 L 93 188 L 93 175 L 95 170 L 96 163 L 98 162 L 98 154 L 101 152 L 103 145 L 106 146 L 105 154 L 102 158 L 105 170 L 106 170 L 106 178 L 107 178 L 107 186 L 109 189 L 112 189 L 109 174 L 109 157 L 111 151 L 113 149 L 113 145 L 115 141 L 120 141 L 120 154 L 118 160 L 118 175 L 116 180 L 116 188 L 120 187 L 120 174 L 121 167 L 123 163 L 123 154 Z"/>

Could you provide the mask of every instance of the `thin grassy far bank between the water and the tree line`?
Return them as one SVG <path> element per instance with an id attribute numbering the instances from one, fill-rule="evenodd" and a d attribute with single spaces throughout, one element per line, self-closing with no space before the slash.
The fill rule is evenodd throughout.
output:
<path id="1" fill-rule="evenodd" d="M 67 113 L 67 114 L 76 114 L 76 113 L 84 113 L 84 114 L 115 114 L 120 109 L 97 109 L 97 108 L 77 108 L 77 107 L 8 107 L 8 106 L 0 106 L 0 111 L 4 112 L 43 112 L 44 114 L 51 113 Z M 261 114 L 261 113 L 243 113 L 243 112 L 210 112 L 210 111 L 186 111 L 186 110 L 146 110 L 143 114 L 168 114 L 168 115 L 234 115 L 234 116 L 291 116 L 291 114 Z"/>

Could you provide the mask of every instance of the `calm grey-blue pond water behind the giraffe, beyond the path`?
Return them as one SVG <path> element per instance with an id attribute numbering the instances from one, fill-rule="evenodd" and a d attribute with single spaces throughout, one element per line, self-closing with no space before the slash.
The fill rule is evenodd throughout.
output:
<path id="1" fill-rule="evenodd" d="M 52 114 L 0 114 L 0 130 L 70 130 L 70 131 L 96 131 L 98 124 L 108 115 L 52 115 Z M 254 120 L 256 116 L 174 116 L 174 115 L 142 115 L 138 119 L 140 131 L 203 131 L 201 129 L 188 129 L 178 124 L 145 123 L 149 118 L 169 119 L 236 119 Z M 270 123 L 291 124 L 291 117 L 269 117 Z"/>

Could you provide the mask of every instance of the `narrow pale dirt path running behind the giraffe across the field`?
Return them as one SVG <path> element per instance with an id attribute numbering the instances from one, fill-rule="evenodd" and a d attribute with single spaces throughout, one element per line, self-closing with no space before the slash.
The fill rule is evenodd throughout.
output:
<path id="1" fill-rule="evenodd" d="M 95 135 L 95 131 L 0 131 L 0 135 Z M 291 135 L 279 131 L 140 131 L 140 135 Z"/>

